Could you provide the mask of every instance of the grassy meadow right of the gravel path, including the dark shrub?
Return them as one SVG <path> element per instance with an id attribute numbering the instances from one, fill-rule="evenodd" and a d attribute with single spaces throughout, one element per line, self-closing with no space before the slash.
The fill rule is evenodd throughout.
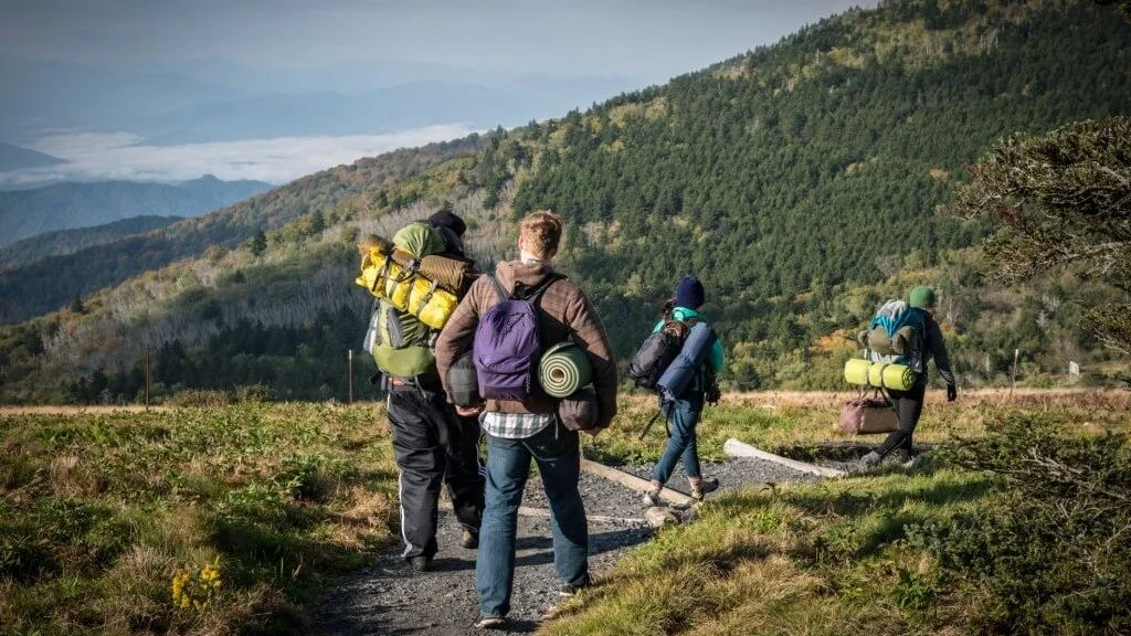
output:
<path id="1" fill-rule="evenodd" d="M 847 439 L 844 395 L 733 396 L 700 448 Z M 627 405 L 642 422 L 650 404 Z M 662 428 L 662 427 L 661 427 Z M 544 626 L 547 635 L 1125 634 L 1131 394 L 929 394 L 916 439 L 944 444 L 817 484 L 709 499 L 692 525 L 630 552 Z M 879 440 L 879 436 L 866 436 Z M 614 432 L 606 456 L 654 456 Z M 1043 499 L 1044 498 L 1044 499 Z"/>

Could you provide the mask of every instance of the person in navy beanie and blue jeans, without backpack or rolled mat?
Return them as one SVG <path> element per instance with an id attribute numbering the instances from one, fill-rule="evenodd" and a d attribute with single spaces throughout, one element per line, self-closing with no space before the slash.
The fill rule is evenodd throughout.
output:
<path id="1" fill-rule="evenodd" d="M 675 298 L 664 303 L 661 320 L 653 329 L 654 334 L 668 330 L 672 321 L 684 325 L 702 325 L 700 329 L 709 329 L 706 336 L 708 340 L 703 341 L 702 346 L 709 349 L 694 352 L 701 362 L 697 367 L 685 370 L 690 377 L 685 380 L 684 388 L 676 394 L 666 389 L 661 390 L 661 411 L 667 420 L 667 447 L 651 470 L 651 488 L 644 496 L 646 506 L 659 505 L 659 492 L 671 479 L 675 464 L 681 458 L 683 459 L 683 472 L 691 487 L 691 497 L 701 500 L 708 492 L 718 489 L 717 479 L 705 479 L 702 475 L 696 435 L 696 426 L 702 414 L 703 404 L 708 399 L 718 401 L 718 385 L 715 378 L 723 370 L 724 362 L 723 343 L 714 329 L 710 329 L 707 319 L 697 311 L 705 299 L 706 293 L 699 278 L 684 276 L 675 287 Z M 690 340 L 691 336 L 689 335 L 687 338 Z M 679 358 L 672 364 L 677 361 Z M 664 372 L 664 370 L 661 371 Z M 662 377 L 659 384 L 663 385 L 664 381 L 665 378 Z"/>

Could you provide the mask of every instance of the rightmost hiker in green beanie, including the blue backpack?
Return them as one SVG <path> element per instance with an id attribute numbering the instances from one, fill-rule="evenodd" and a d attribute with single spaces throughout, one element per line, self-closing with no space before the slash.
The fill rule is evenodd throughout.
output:
<path id="1" fill-rule="evenodd" d="M 888 435 L 880 448 L 864 455 L 861 459 L 863 469 L 879 464 L 897 450 L 903 456 L 904 467 L 914 469 L 918 465 L 921 457 L 915 454 L 912 436 L 923 414 L 927 385 L 926 366 L 932 359 L 939 375 L 947 383 L 947 402 L 953 402 L 958 397 L 947 344 L 933 316 L 934 290 L 916 286 L 908 294 L 906 307 L 900 307 L 901 304 L 901 301 L 884 303 L 873 318 L 870 328 L 860 336 L 864 346 L 872 352 L 873 361 L 906 364 L 915 373 L 910 388 L 884 389 L 898 414 L 899 424 Z"/>

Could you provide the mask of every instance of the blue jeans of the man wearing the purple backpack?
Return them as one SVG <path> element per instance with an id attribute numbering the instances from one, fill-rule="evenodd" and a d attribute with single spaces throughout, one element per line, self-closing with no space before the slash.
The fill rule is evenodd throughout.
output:
<path id="1" fill-rule="evenodd" d="M 589 578 L 589 527 L 577 487 L 581 472 L 578 433 L 554 423 L 526 439 L 489 435 L 486 509 L 475 560 L 482 616 L 507 616 L 510 611 L 518 506 L 532 458 L 538 463 L 550 500 L 558 576 L 570 585 L 584 585 Z"/>

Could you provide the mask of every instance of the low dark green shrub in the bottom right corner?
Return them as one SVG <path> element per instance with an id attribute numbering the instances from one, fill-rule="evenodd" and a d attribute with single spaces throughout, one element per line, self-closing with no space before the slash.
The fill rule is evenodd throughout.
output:
<path id="1" fill-rule="evenodd" d="M 1016 414 L 938 453 L 999 491 L 976 514 L 912 528 L 908 544 L 987 592 L 986 631 L 1131 633 L 1131 444 L 1067 423 Z"/>

